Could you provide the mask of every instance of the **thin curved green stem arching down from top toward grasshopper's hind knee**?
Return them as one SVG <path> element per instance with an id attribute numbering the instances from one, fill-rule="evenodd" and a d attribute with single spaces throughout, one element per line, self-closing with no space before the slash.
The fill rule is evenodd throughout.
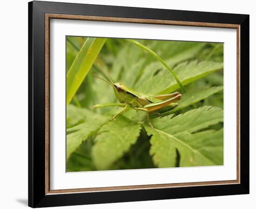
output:
<path id="1" fill-rule="evenodd" d="M 172 75 L 174 76 L 176 82 L 177 82 L 178 85 L 180 86 L 180 88 L 181 88 L 181 90 L 182 90 L 182 93 L 185 93 L 185 92 L 186 92 L 184 86 L 182 85 L 180 79 L 177 77 L 177 75 L 175 74 L 175 72 L 166 64 L 165 61 L 163 61 L 163 59 L 162 59 L 161 57 L 159 57 L 155 52 L 153 52 L 153 51 L 152 51 L 151 49 L 149 49 L 148 47 L 142 45 L 141 43 L 139 43 L 139 42 L 137 42 L 137 41 L 135 41 L 135 40 L 133 40 L 133 39 L 126 39 L 126 40 L 129 41 L 129 42 L 131 42 L 131 43 L 133 43 L 133 44 L 135 44 L 136 46 L 139 46 L 139 47 L 141 47 L 142 49 L 148 51 L 153 57 L 155 57 L 155 59 L 157 59 L 158 61 L 160 61 L 160 62 L 162 63 L 162 65 L 164 65 L 164 66 L 168 69 L 168 71 L 172 73 Z"/>

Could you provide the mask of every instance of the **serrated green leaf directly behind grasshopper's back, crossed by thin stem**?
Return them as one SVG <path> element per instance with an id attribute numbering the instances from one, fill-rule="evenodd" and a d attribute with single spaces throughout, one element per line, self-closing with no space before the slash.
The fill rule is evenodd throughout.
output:
<path id="1" fill-rule="evenodd" d="M 173 70 L 182 84 L 187 85 L 222 68 L 223 63 L 213 61 L 198 62 L 194 60 L 192 62 L 183 62 Z M 135 89 L 147 94 L 164 94 L 179 89 L 179 85 L 168 71 L 162 69 L 162 66 L 158 63 L 152 63 L 146 67 L 140 80 L 136 83 Z"/>

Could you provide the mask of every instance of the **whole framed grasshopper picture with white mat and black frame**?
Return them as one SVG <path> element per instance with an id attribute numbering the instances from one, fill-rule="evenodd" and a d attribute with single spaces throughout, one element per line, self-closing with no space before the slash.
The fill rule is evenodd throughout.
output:
<path id="1" fill-rule="evenodd" d="M 249 15 L 28 18 L 30 207 L 249 194 Z"/>

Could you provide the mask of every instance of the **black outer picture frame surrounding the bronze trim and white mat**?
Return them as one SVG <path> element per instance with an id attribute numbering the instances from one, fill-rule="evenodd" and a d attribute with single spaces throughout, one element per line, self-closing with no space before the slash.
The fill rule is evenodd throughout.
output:
<path id="1" fill-rule="evenodd" d="M 239 25 L 240 183 L 46 194 L 46 13 Z M 30 207 L 249 194 L 249 15 L 32 1 L 28 3 L 28 66 L 28 205 Z"/>

